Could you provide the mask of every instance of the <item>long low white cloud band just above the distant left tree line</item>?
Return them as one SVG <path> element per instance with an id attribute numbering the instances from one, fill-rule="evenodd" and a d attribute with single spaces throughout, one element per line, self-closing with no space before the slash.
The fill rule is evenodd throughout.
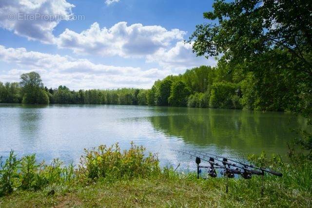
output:
<path id="1" fill-rule="evenodd" d="M 168 70 L 109 66 L 96 64 L 88 59 L 44 54 L 27 51 L 25 48 L 5 48 L 1 45 L 0 59 L 17 65 L 17 68 L 0 75 L 2 82 L 19 81 L 22 73 L 37 71 L 46 86 L 66 85 L 75 90 L 81 88 L 149 88 L 155 79 L 171 74 Z"/>

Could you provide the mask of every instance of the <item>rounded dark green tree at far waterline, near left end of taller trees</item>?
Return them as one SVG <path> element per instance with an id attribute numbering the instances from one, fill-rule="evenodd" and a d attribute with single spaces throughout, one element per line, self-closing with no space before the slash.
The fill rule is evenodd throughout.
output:
<path id="1" fill-rule="evenodd" d="M 168 98 L 169 104 L 172 106 L 186 107 L 187 98 L 190 95 L 190 90 L 181 80 L 174 82 L 171 85 L 171 92 Z"/>

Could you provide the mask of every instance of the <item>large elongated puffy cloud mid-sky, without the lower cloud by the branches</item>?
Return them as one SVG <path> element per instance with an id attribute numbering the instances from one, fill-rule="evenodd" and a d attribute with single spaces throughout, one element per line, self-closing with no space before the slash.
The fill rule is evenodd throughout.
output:
<path id="1" fill-rule="evenodd" d="M 59 48 L 72 49 L 77 54 L 100 56 L 144 57 L 181 40 L 184 31 L 166 30 L 161 26 L 127 25 L 118 22 L 111 28 L 100 28 L 97 22 L 88 30 L 76 33 L 66 29 L 58 38 Z"/>

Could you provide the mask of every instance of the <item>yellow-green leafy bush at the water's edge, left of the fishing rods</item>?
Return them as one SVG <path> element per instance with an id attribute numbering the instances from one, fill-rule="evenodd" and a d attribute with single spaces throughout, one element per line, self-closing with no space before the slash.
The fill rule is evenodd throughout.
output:
<path id="1" fill-rule="evenodd" d="M 97 180 L 147 177 L 160 172 L 159 161 L 149 153 L 144 156 L 145 148 L 131 143 L 129 150 L 121 151 L 118 144 L 111 147 L 99 146 L 92 151 L 85 149 L 78 168 L 79 176 Z"/>

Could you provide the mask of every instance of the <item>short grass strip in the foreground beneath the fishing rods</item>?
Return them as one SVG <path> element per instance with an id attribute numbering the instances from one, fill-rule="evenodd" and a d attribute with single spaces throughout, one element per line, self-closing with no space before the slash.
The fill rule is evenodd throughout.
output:
<path id="1" fill-rule="evenodd" d="M 50 185 L 39 191 L 17 190 L 0 198 L 0 207 L 311 207 L 311 192 L 289 189 L 279 180 L 225 180 L 162 176 L 130 180 L 99 180 L 88 186 Z M 54 194 L 51 194 L 54 190 Z"/>

